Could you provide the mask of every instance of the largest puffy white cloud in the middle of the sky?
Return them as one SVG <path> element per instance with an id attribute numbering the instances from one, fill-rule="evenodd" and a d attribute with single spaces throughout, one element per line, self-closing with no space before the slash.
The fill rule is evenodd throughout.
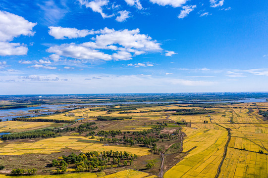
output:
<path id="1" fill-rule="evenodd" d="M 54 53 L 50 57 L 59 60 L 60 56 L 80 60 L 130 60 L 133 55 L 141 55 L 146 52 L 161 51 L 160 44 L 150 36 L 140 34 L 135 30 L 114 30 L 104 28 L 99 30 L 100 35 L 92 38 L 94 42 L 82 44 L 54 45 L 47 52 Z M 112 54 L 105 53 L 104 49 L 115 51 Z"/>

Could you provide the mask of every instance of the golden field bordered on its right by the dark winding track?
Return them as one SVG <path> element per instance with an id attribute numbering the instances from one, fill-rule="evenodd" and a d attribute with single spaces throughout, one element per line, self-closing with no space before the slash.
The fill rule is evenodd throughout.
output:
<path id="1" fill-rule="evenodd" d="M 225 130 L 207 130 L 183 128 L 187 134 L 183 141 L 183 152 L 190 150 L 187 156 L 164 174 L 164 178 L 212 178 L 222 159 L 227 140 Z"/>

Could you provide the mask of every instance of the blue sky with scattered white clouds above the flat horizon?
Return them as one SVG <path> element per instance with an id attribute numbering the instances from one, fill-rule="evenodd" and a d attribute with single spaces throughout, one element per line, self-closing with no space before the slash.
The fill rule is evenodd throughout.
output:
<path id="1" fill-rule="evenodd" d="M 267 7 L 0 0 L 0 94 L 267 91 Z"/>

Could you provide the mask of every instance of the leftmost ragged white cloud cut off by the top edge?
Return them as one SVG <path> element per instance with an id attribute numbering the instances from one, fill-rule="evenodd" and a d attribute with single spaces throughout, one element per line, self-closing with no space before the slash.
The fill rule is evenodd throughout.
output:
<path id="1" fill-rule="evenodd" d="M 87 8 L 90 7 L 94 12 L 99 12 L 103 18 L 112 17 L 114 14 L 107 15 L 103 12 L 103 6 L 106 6 L 109 1 L 108 0 L 79 0 L 82 5 L 85 5 Z"/>

